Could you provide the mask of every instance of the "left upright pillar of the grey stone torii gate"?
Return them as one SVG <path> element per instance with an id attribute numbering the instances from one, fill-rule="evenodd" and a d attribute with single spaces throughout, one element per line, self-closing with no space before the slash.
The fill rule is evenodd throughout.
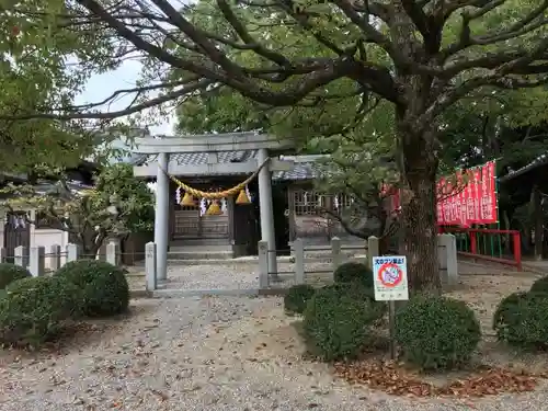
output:
<path id="1" fill-rule="evenodd" d="M 158 155 L 158 173 L 156 178 L 156 209 L 155 209 L 155 243 L 156 243 L 156 266 L 158 279 L 168 278 L 168 241 L 169 241 L 169 196 L 170 180 L 165 175 L 168 171 L 169 155 L 160 152 Z"/>

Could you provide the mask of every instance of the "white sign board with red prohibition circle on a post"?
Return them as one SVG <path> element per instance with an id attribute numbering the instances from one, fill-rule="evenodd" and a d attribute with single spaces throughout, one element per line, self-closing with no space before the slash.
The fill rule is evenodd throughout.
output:
<path id="1" fill-rule="evenodd" d="M 374 256 L 373 281 L 375 299 L 377 301 L 408 300 L 408 266 L 406 256 Z"/>

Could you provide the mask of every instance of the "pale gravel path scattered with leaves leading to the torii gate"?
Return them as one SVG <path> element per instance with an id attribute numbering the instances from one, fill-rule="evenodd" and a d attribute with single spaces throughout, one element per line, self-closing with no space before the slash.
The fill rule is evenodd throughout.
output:
<path id="1" fill-rule="evenodd" d="M 0 410 L 546 410 L 548 388 L 470 401 L 389 397 L 300 359 L 279 298 L 136 300 L 57 354 L 0 353 Z"/>

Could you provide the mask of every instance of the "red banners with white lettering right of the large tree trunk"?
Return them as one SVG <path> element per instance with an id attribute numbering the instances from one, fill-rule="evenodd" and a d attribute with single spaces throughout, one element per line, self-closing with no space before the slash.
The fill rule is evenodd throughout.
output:
<path id="1" fill-rule="evenodd" d="M 437 224 L 469 227 L 496 222 L 495 179 L 494 161 L 467 170 L 466 174 L 458 172 L 454 179 L 439 179 Z"/>

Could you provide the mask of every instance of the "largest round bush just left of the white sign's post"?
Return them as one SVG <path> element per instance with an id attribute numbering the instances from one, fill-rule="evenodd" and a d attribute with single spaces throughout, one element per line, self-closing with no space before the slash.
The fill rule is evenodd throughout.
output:
<path id="1" fill-rule="evenodd" d="M 356 357 L 383 308 L 368 298 L 365 287 L 345 284 L 318 289 L 304 312 L 302 330 L 310 351 L 324 361 Z"/>

